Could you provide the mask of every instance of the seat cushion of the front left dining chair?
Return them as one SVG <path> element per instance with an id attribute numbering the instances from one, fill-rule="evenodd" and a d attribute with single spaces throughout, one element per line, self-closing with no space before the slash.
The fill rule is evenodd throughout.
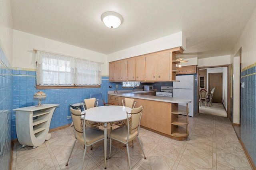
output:
<path id="1" fill-rule="evenodd" d="M 104 131 L 96 127 L 88 127 L 85 129 L 86 145 L 90 145 L 99 139 L 104 138 Z M 80 143 L 84 143 L 84 136 L 81 133 L 76 133 L 76 138 Z"/>

